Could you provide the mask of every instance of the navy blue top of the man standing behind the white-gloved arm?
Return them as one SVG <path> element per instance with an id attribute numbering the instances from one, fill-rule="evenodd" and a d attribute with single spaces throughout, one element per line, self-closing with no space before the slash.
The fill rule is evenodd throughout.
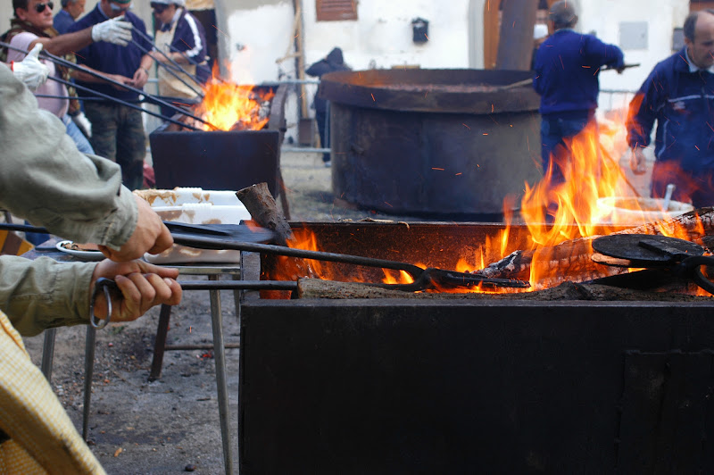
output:
<path id="1" fill-rule="evenodd" d="M 94 10 L 87 13 L 87 15 L 79 19 L 79 21 L 76 21 L 74 25 L 70 27 L 69 32 L 86 29 L 96 23 L 108 20 L 104 12 L 100 10 L 99 5 L 100 4 L 96 4 Z M 131 24 L 134 25 L 135 29 L 140 30 L 144 33 L 144 35 L 146 34 L 144 21 L 137 17 L 137 15 L 132 12 L 126 12 L 124 14 L 124 18 L 126 21 L 130 21 Z M 138 35 L 137 32 L 133 33 L 133 39 L 146 51 L 151 51 L 152 45 L 142 36 Z M 77 52 L 77 63 L 86 64 L 88 67 L 97 71 L 109 74 L 120 74 L 121 76 L 131 78 L 134 76 L 134 73 L 137 72 L 137 69 L 139 69 L 142 56 L 144 56 L 144 53 L 134 43 L 129 43 L 127 46 L 119 46 L 100 41 L 98 43 L 92 43 L 86 48 L 79 50 Z M 126 89 L 117 89 L 111 84 L 85 83 L 82 81 L 77 81 L 77 84 L 84 87 L 91 87 L 92 89 L 108 96 L 117 97 L 118 99 L 125 101 L 138 99 L 138 95 L 136 93 Z M 81 90 L 78 90 L 77 92 L 79 96 L 92 96 L 90 93 Z"/>

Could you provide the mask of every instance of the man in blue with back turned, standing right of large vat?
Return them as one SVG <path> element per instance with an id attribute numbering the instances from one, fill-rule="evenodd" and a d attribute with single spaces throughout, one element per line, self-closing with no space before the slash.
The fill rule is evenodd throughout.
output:
<path id="1" fill-rule="evenodd" d="M 618 46 L 573 31 L 577 14 L 571 1 L 552 4 L 548 21 L 553 34 L 535 55 L 533 87 L 541 96 L 543 169 L 547 171 L 551 158 L 555 159 L 555 185 L 564 180 L 561 167 L 569 162 L 564 139 L 595 124 L 600 69 L 610 66 L 621 72 L 624 60 Z"/>

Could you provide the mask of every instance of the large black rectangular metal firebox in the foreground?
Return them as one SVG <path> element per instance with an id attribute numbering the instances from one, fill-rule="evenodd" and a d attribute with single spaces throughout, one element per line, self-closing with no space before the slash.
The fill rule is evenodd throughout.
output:
<path id="1" fill-rule="evenodd" d="M 411 262 L 432 256 L 430 265 L 450 268 L 447 254 L 477 246 L 499 225 L 294 227 L 314 230 L 327 251 Z M 511 245 L 523 238 L 516 232 Z M 257 257 L 246 254 L 246 279 L 259 273 Z M 709 300 L 246 295 L 241 468 L 712 471 L 712 310 Z"/>

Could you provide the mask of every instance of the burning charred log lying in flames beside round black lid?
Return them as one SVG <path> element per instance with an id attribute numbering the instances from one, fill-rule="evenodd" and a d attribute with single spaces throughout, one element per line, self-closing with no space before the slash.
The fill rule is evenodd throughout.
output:
<path id="1" fill-rule="evenodd" d="M 688 240 L 706 246 L 705 243 L 710 242 L 706 237 L 714 235 L 714 208 L 701 208 L 676 218 L 654 221 L 612 234 L 673 235 L 677 230 L 680 233 L 684 231 Z M 487 278 L 530 279 L 532 264 L 538 262 L 538 266 L 542 266 L 543 269 L 558 270 L 557 275 L 551 273 L 532 282 L 537 288 L 547 288 L 556 286 L 564 280 L 585 282 L 627 272 L 627 269 L 593 261 L 592 242 L 595 237 L 598 236 L 579 237 L 535 251 L 515 251 L 476 273 Z"/>

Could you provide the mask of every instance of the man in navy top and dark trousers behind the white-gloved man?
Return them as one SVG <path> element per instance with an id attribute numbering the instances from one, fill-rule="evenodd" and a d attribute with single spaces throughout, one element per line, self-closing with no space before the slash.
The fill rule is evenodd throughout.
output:
<path id="1" fill-rule="evenodd" d="M 137 89 L 141 89 L 149 79 L 149 68 L 154 60 L 143 51 L 150 51 L 152 45 L 145 40 L 146 27 L 137 15 L 129 11 L 130 0 L 100 0 L 96 7 L 71 26 L 70 31 L 86 29 L 96 23 L 124 15 L 134 29 L 133 41 L 127 46 L 94 43 L 77 52 L 77 62 L 106 77 Z M 91 87 L 107 96 L 116 97 L 129 103 L 138 100 L 138 94 L 116 87 L 86 72 L 79 71 L 77 83 Z M 79 96 L 92 96 L 79 91 Z M 121 176 L 129 189 L 137 189 L 144 181 L 144 157 L 146 154 L 144 123 L 141 112 L 111 101 L 86 101 L 87 119 L 92 122 L 91 144 L 95 154 L 117 162 Z"/>

